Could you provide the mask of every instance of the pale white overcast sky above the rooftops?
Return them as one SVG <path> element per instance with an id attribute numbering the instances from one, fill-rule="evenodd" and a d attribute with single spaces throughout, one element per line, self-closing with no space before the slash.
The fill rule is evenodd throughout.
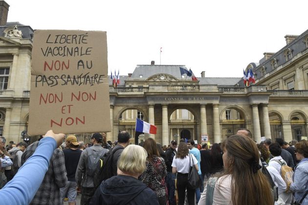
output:
<path id="1" fill-rule="evenodd" d="M 107 31 L 109 72 L 186 65 L 199 77 L 242 77 L 250 62 L 308 29 L 307 0 L 5 0 L 8 22 Z"/>

